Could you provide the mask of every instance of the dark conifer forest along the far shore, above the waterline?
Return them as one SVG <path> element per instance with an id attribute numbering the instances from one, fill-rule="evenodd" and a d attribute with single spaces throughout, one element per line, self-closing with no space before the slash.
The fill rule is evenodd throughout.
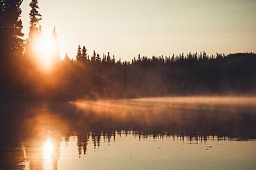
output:
<path id="1" fill-rule="evenodd" d="M 75 57 L 61 57 L 55 28 L 53 67 L 51 72 L 44 72 L 35 60 L 39 54 L 33 50 L 43 29 L 38 2 L 30 2 L 28 39 L 22 33 L 21 3 L 0 1 L 2 101 L 256 94 L 253 53 L 138 55 L 132 61 L 121 61 L 109 52 L 100 55 L 94 51 L 89 56 L 86 47 L 78 45 Z"/>

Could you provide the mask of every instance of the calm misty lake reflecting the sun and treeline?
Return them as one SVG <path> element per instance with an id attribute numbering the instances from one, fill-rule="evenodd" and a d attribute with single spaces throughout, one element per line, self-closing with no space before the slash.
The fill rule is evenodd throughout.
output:
<path id="1" fill-rule="evenodd" d="M 1 104 L 0 169 L 256 169 L 256 98 Z"/>

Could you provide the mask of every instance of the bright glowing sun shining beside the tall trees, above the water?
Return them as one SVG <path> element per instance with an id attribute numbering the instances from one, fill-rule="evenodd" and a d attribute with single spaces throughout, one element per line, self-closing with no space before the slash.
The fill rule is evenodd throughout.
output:
<path id="1" fill-rule="evenodd" d="M 35 41 L 35 58 L 44 70 L 49 70 L 55 60 L 56 45 L 51 36 L 42 35 Z"/>

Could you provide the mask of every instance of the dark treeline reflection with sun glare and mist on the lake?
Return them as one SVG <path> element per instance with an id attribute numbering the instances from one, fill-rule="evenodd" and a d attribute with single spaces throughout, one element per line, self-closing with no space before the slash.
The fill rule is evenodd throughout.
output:
<path id="1" fill-rule="evenodd" d="M 253 99 L 255 100 L 255 99 Z M 1 106 L 1 167 L 57 169 L 60 145 L 87 147 L 133 136 L 138 140 L 255 140 L 256 106 L 145 100 Z M 75 140 L 74 140 L 75 138 Z"/>

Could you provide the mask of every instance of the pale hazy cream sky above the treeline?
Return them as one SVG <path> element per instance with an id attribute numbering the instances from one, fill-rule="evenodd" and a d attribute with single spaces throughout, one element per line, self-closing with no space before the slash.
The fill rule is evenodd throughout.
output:
<path id="1" fill-rule="evenodd" d="M 256 52 L 256 0 L 38 0 L 42 28 L 56 26 L 60 53 L 77 45 L 111 52 L 122 60 L 138 54 Z M 22 4 L 28 32 L 28 3 Z"/>

